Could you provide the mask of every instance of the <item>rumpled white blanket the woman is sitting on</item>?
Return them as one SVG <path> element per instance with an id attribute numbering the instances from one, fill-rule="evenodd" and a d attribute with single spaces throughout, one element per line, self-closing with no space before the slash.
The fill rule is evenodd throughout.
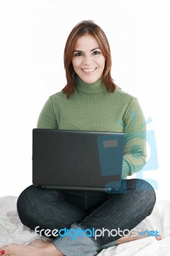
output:
<path id="1" fill-rule="evenodd" d="M 17 214 L 17 196 L 0 198 L 0 247 L 4 244 L 29 244 L 35 238 L 35 232 L 22 225 Z M 134 230 L 158 230 L 164 237 L 157 241 L 155 237 L 146 237 L 102 250 L 98 256 L 170 256 L 170 201 L 158 200 L 153 212 Z"/>

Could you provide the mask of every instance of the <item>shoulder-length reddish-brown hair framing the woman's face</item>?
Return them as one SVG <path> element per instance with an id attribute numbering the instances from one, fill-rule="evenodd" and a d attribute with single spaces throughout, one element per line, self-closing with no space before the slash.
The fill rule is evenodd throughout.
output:
<path id="1" fill-rule="evenodd" d="M 64 64 L 67 84 L 62 91 L 65 92 L 68 97 L 74 92 L 74 87 L 76 84 L 76 73 L 72 66 L 74 47 L 77 39 L 87 34 L 93 36 L 97 40 L 98 44 L 100 45 L 102 54 L 105 58 L 105 67 L 102 76 L 103 83 L 105 84 L 108 92 L 114 92 L 116 88 L 116 84 L 111 77 L 111 50 L 107 37 L 105 36 L 104 31 L 97 24 L 95 24 L 93 20 L 83 20 L 72 29 L 70 35 L 66 40 L 65 45 Z"/>

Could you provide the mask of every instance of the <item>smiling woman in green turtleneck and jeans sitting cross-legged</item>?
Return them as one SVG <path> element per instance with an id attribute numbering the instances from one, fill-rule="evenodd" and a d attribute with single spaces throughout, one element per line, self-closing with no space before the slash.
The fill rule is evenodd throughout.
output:
<path id="1" fill-rule="evenodd" d="M 143 112 L 135 97 L 125 93 L 111 78 L 111 52 L 104 31 L 91 20 L 72 29 L 65 46 L 67 84 L 47 100 L 38 118 L 38 128 L 125 133 L 123 182 L 120 193 L 26 188 L 17 202 L 20 220 L 35 230 L 132 230 L 155 205 L 155 191 L 148 182 L 125 180 L 141 170 L 146 161 Z M 134 122 L 135 121 L 135 122 Z M 11 244 L 1 255 L 97 255 L 103 248 L 140 236 L 126 232 L 109 236 L 53 237 L 28 246 Z"/>

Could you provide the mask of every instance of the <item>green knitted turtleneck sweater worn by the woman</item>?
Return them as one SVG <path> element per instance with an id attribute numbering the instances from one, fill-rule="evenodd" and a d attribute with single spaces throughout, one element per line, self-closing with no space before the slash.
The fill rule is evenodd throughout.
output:
<path id="1" fill-rule="evenodd" d="M 37 127 L 124 132 L 123 179 L 141 170 L 146 161 L 145 120 L 139 102 L 119 88 L 107 92 L 102 79 L 86 84 L 77 77 L 75 91 L 69 99 L 62 91 L 50 96 Z"/>

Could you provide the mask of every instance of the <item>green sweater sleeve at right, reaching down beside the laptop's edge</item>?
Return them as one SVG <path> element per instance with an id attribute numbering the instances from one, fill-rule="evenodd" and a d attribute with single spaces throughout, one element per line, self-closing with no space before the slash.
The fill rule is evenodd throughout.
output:
<path id="1" fill-rule="evenodd" d="M 124 116 L 125 146 L 122 179 L 139 172 L 146 163 L 146 123 L 137 99 L 132 99 Z"/>

